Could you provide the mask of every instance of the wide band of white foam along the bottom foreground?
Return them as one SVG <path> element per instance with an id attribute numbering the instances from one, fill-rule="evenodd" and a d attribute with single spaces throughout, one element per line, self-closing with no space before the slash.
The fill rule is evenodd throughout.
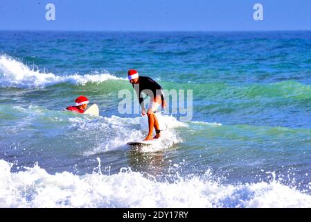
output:
<path id="1" fill-rule="evenodd" d="M 130 169 L 77 176 L 10 168 L 0 160 L 0 207 L 311 207 L 310 195 L 276 181 L 222 185 L 210 175 L 169 183 Z"/>

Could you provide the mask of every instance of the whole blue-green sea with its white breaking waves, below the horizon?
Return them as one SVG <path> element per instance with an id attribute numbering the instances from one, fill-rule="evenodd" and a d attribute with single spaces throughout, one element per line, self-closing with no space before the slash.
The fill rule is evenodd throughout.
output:
<path id="1" fill-rule="evenodd" d="M 311 207 L 310 49 L 311 32 L 1 31 L 1 206 Z M 118 112 L 127 69 L 193 90 L 159 147 L 126 146 L 147 128 Z M 62 111 L 81 94 L 99 118 Z"/>

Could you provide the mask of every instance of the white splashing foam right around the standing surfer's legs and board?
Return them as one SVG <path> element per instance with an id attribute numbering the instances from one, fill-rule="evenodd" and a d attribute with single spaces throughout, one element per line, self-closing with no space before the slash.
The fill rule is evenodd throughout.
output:
<path id="1" fill-rule="evenodd" d="M 175 128 L 185 126 L 171 116 L 157 114 L 159 121 L 165 122 L 167 129 L 161 133 L 161 143 L 143 148 L 143 152 L 154 152 L 169 148 L 173 144 L 181 142 Z M 70 128 L 77 128 L 77 133 L 89 133 L 97 138 L 98 145 L 85 155 L 94 155 L 118 148 L 125 148 L 127 142 L 144 139 L 148 133 L 148 118 L 122 118 L 117 116 L 103 117 L 99 119 L 87 119 L 87 117 L 70 118 Z"/>

